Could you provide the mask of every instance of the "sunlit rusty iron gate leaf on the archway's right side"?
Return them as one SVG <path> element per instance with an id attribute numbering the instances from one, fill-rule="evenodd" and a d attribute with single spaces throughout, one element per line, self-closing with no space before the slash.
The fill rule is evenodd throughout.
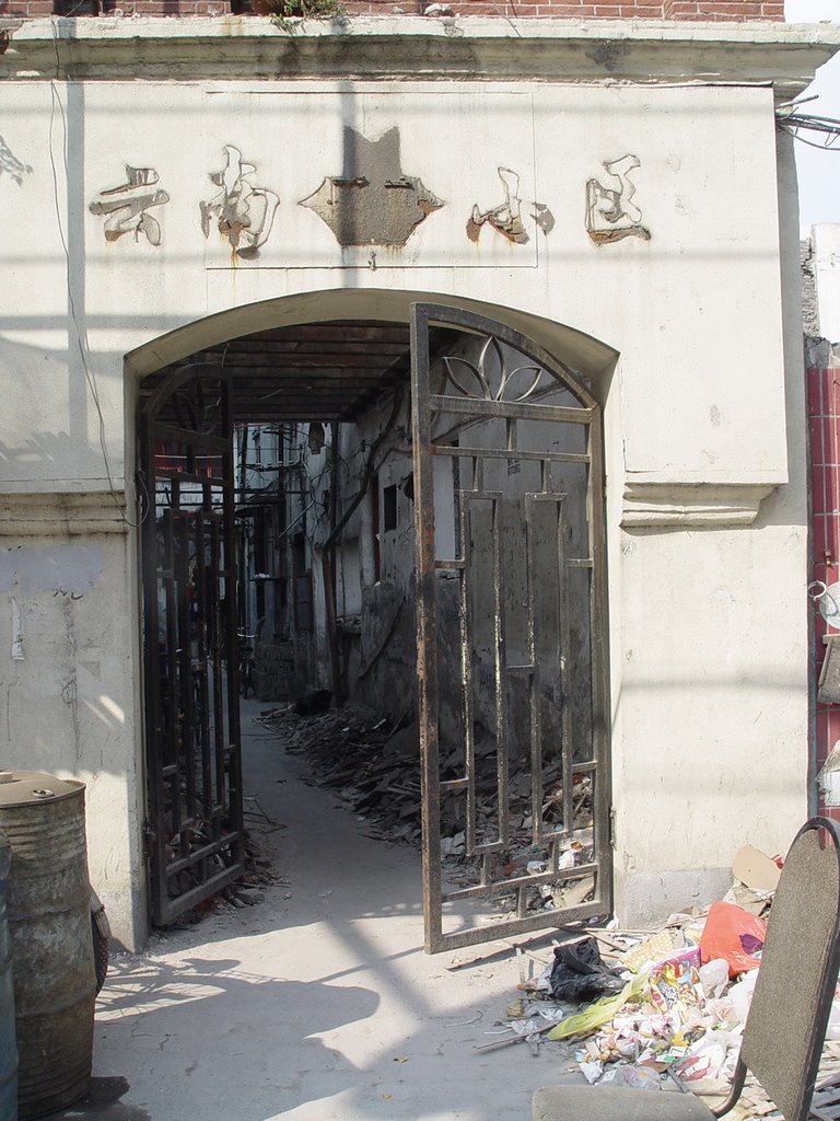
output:
<path id="1" fill-rule="evenodd" d="M 597 402 L 548 353 L 451 307 L 411 332 L 435 953 L 612 911 L 604 482 Z"/>

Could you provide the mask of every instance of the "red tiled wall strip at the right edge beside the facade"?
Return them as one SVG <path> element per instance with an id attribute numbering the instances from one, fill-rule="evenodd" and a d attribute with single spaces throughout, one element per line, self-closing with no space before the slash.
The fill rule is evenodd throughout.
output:
<path id="1" fill-rule="evenodd" d="M 811 580 L 830 585 L 840 582 L 840 369 L 808 371 L 808 414 L 811 441 L 811 502 L 813 563 Z M 819 587 L 811 589 L 818 592 Z M 825 655 L 822 637 L 829 630 L 819 605 L 813 603 L 814 668 L 816 680 Z M 838 633 L 831 628 L 831 633 Z M 816 705 L 816 769 L 840 740 L 840 705 Z M 814 778 L 815 781 L 815 778 Z M 840 821 L 840 807 L 827 810 Z"/>

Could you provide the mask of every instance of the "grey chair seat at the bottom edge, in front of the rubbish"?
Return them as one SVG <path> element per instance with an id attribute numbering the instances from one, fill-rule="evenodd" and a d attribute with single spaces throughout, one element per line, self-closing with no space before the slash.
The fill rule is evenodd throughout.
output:
<path id="1" fill-rule="evenodd" d="M 533 1121 L 716 1121 L 693 1094 L 632 1086 L 543 1086 Z"/>

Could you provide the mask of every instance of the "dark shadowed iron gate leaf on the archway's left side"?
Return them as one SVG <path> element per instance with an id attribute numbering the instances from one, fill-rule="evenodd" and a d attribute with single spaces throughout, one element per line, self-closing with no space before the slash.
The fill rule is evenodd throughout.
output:
<path id="1" fill-rule="evenodd" d="M 244 870 L 230 376 L 185 367 L 140 410 L 152 920 Z"/>

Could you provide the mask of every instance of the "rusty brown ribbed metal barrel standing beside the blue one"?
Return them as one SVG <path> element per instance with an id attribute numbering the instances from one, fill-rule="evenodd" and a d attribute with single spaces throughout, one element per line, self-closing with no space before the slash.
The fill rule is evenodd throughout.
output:
<path id="1" fill-rule="evenodd" d="M 21 1121 L 78 1101 L 91 1080 L 96 975 L 84 791 L 84 782 L 52 775 L 0 771 Z"/>

